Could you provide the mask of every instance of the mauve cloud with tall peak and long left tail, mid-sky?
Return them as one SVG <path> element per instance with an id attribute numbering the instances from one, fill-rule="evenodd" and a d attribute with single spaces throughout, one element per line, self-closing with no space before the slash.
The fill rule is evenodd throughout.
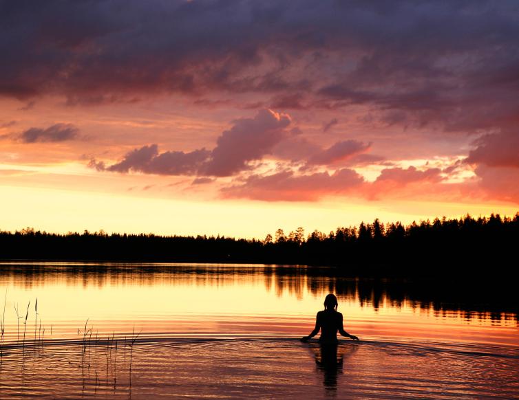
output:
<path id="1" fill-rule="evenodd" d="M 112 166 L 105 167 L 96 160 L 89 162 L 89 166 L 118 173 L 133 170 L 159 175 L 229 177 L 251 169 L 251 162 L 267 155 L 309 166 L 331 165 L 354 159 L 371 147 L 371 143 L 343 140 L 322 148 L 299 137 L 299 129 L 288 129 L 290 123 L 289 115 L 264 109 L 254 118 L 235 120 L 232 128 L 218 137 L 212 151 L 202 148 L 191 153 L 159 153 L 158 145 L 151 144 L 134 149 Z"/>

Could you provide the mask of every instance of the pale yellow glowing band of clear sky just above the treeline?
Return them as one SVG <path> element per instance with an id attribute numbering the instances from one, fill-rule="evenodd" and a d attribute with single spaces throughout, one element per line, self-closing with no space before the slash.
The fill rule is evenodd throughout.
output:
<path id="1" fill-rule="evenodd" d="M 513 216 L 517 208 L 502 205 L 400 202 L 388 209 L 377 201 L 330 199 L 323 202 L 185 201 L 107 192 L 79 192 L 0 186 L 3 212 L 0 229 L 34 227 L 47 232 L 154 233 L 224 235 L 264 238 L 281 227 L 286 232 L 304 227 L 328 233 L 339 226 L 359 225 L 378 218 L 383 223 L 459 218 L 467 213 Z M 9 210 L 23 210 L 12 213 Z"/>

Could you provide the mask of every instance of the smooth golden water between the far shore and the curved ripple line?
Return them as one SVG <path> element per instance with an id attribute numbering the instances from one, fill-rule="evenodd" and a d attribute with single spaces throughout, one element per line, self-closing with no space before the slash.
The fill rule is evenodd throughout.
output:
<path id="1" fill-rule="evenodd" d="M 324 276 L 326 275 L 326 276 Z M 77 335 L 89 318 L 102 332 L 148 335 L 308 334 L 327 293 L 337 293 L 346 330 L 362 337 L 519 344 L 516 304 L 506 297 L 403 280 L 354 280 L 330 269 L 254 265 L 3 264 L 6 337 L 14 305 L 32 300 L 47 333 Z M 486 296 L 486 297 L 485 297 Z"/>

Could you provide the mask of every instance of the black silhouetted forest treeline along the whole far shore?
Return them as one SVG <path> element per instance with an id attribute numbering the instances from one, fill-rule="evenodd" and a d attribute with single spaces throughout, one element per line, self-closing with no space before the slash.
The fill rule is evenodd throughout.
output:
<path id="1" fill-rule="evenodd" d="M 0 231 L 0 259 L 330 265 L 351 274 L 471 274 L 518 269 L 519 213 L 465 216 L 403 225 L 361 223 L 325 234 L 277 230 L 264 240 L 224 236 L 159 236 L 27 228 Z"/>

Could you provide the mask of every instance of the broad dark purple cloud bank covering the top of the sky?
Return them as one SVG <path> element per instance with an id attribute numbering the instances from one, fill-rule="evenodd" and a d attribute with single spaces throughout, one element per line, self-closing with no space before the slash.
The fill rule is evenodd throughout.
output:
<path id="1" fill-rule="evenodd" d="M 516 124 L 513 0 L 129 0 L 124 9 L 116 1 L 48 0 L 33 12 L 38 7 L 3 5 L 0 35 L 10 40 L 0 42 L 0 96 L 92 104 L 252 93 L 276 109 L 366 106 L 401 126 L 473 132 Z"/>

